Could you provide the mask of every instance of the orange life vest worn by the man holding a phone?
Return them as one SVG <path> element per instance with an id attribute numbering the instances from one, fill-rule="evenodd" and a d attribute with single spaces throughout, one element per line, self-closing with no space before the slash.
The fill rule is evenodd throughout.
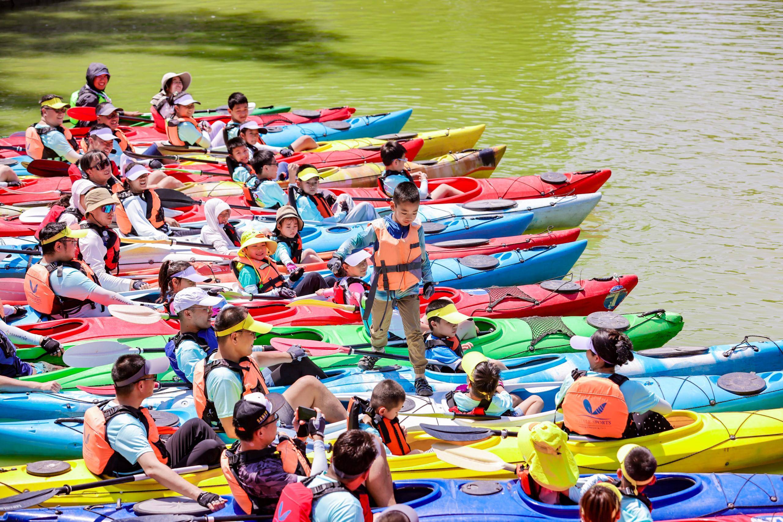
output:
<path id="1" fill-rule="evenodd" d="M 266 499 L 260 499 L 251 495 L 242 487 L 239 479 L 240 466 L 252 463 L 258 463 L 266 459 L 280 459 L 283 464 L 283 471 L 292 475 L 307 477 L 310 474 L 310 463 L 304 453 L 298 448 L 294 441 L 285 435 L 278 435 L 279 443 L 275 448 L 265 448 L 261 450 L 251 450 L 240 452 L 240 441 L 223 450 L 220 455 L 220 467 L 226 482 L 229 483 L 231 494 L 234 496 L 234 502 L 244 511 L 250 514 L 271 513 L 275 504 L 266 502 Z"/>

